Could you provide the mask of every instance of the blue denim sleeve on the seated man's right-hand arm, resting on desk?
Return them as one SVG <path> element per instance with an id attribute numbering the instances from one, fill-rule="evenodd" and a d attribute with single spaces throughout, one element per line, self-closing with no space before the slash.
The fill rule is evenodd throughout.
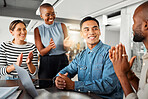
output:
<path id="1" fill-rule="evenodd" d="M 75 81 L 75 91 L 81 92 L 111 94 L 117 87 L 120 88 L 121 86 L 109 59 L 108 51 L 104 56 L 102 78 L 92 79 L 92 81 Z"/>

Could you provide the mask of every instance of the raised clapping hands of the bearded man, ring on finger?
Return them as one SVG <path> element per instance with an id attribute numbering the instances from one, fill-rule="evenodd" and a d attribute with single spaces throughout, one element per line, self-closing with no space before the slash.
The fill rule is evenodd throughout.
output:
<path id="1" fill-rule="evenodd" d="M 130 62 L 128 62 L 128 56 L 125 51 L 125 46 L 120 43 L 116 46 L 116 48 L 112 47 L 109 50 L 109 58 L 113 63 L 116 75 L 119 77 L 124 74 L 127 75 L 136 57 L 132 57 Z"/>

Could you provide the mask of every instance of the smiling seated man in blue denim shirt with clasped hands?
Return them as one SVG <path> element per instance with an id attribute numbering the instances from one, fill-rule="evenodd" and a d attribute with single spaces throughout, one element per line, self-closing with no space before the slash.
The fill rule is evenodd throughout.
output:
<path id="1" fill-rule="evenodd" d="M 103 98 L 122 99 L 123 91 L 109 59 L 110 46 L 99 40 L 99 22 L 92 17 L 80 23 L 81 36 L 88 48 L 57 74 L 58 89 L 93 92 Z M 78 74 L 78 81 L 72 81 Z"/>

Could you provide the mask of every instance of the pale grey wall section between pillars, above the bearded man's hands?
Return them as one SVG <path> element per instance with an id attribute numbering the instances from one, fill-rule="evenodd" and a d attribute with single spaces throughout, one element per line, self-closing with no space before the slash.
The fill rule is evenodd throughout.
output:
<path id="1" fill-rule="evenodd" d="M 120 31 L 109 30 L 106 27 L 105 44 L 108 44 L 110 46 L 116 46 L 117 44 L 119 44 L 119 41 L 120 41 Z"/>

